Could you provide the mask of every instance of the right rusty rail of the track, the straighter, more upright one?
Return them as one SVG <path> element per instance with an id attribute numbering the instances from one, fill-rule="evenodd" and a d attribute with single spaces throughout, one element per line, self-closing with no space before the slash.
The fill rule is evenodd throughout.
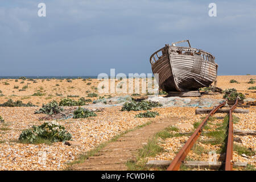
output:
<path id="1" fill-rule="evenodd" d="M 235 104 L 229 110 L 229 132 L 228 132 L 228 143 L 226 147 L 226 160 L 225 160 L 225 171 L 233 170 L 233 110 L 236 108 L 238 98 Z"/>

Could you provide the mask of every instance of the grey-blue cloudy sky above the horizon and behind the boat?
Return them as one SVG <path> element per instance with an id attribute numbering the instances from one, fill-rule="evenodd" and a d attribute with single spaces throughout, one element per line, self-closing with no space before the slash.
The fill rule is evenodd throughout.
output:
<path id="1" fill-rule="evenodd" d="M 151 54 L 184 39 L 212 53 L 220 75 L 256 75 L 255 9 L 254 0 L 1 0 L 0 76 L 152 73 Z"/>

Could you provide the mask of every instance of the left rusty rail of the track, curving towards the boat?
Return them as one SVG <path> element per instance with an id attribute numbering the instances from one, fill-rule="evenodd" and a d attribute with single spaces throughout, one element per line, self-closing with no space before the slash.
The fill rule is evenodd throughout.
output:
<path id="1" fill-rule="evenodd" d="M 188 139 L 188 141 L 184 144 L 184 146 L 181 148 L 179 153 L 175 156 L 174 160 L 172 160 L 172 163 L 167 168 L 167 171 L 177 171 L 180 168 L 181 162 L 186 158 L 188 152 L 191 150 L 193 145 L 196 143 L 197 138 L 199 138 L 203 126 L 207 123 L 207 120 L 210 116 L 212 116 L 220 107 L 224 106 L 226 104 L 226 101 L 224 101 L 222 104 L 215 107 L 210 113 L 207 115 L 207 117 L 204 119 L 203 122 L 197 127 L 196 131 L 191 135 L 191 137 Z"/>

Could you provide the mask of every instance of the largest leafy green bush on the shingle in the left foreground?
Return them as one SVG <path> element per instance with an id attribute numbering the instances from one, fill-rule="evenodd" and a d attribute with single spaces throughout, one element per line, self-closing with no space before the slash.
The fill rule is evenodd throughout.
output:
<path id="1" fill-rule="evenodd" d="M 44 122 L 40 126 L 32 126 L 32 129 L 22 131 L 19 141 L 24 143 L 40 143 L 48 140 L 49 142 L 63 142 L 70 140 L 72 135 L 55 121 Z"/>

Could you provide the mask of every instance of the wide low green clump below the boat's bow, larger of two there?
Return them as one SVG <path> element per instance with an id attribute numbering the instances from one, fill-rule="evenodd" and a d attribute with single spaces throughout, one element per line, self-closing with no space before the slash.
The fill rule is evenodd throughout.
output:
<path id="1" fill-rule="evenodd" d="M 159 107 L 159 106 L 163 106 L 163 105 L 155 101 L 141 101 L 141 102 L 131 101 L 131 102 L 125 102 L 121 110 L 122 111 L 150 110 L 152 109 L 152 107 Z"/>

